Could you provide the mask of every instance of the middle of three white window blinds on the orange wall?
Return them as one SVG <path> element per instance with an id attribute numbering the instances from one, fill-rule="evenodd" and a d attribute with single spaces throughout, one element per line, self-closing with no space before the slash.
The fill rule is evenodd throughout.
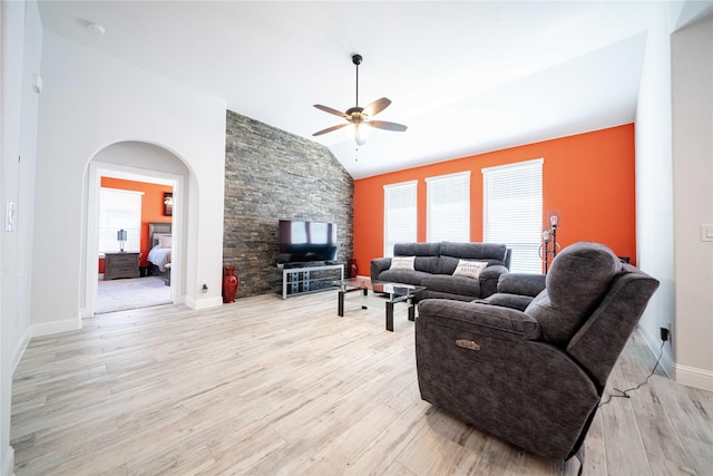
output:
<path id="1" fill-rule="evenodd" d="M 426 241 L 470 241 L 470 171 L 429 177 Z"/>

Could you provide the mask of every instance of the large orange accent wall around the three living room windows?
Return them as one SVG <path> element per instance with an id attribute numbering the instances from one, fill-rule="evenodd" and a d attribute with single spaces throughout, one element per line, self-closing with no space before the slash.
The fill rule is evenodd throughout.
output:
<path id="1" fill-rule="evenodd" d="M 354 181 L 354 259 L 368 275 L 383 256 L 383 186 L 418 179 L 418 241 L 426 241 L 426 178 L 471 171 L 470 240 L 482 241 L 484 167 L 544 158 L 543 224 L 557 211 L 557 242 L 594 241 L 636 264 L 634 124 Z M 548 226 L 547 226 L 548 227 Z"/>

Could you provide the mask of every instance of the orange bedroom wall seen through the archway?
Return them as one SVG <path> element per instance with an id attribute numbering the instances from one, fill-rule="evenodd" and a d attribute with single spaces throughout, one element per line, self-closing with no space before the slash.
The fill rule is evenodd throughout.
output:
<path id="1" fill-rule="evenodd" d="M 114 177 L 101 177 L 101 186 L 135 192 L 144 192 L 141 198 L 141 266 L 148 262 L 148 224 L 156 222 L 170 223 L 170 216 L 164 215 L 164 192 L 173 192 L 170 185 L 149 184 L 146 182 L 125 181 Z M 99 259 L 99 273 L 104 273 L 104 259 Z"/>

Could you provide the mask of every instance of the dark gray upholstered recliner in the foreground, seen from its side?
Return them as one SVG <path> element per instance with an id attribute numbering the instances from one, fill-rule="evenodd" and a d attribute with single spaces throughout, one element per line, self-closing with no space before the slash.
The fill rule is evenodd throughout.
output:
<path id="1" fill-rule="evenodd" d="M 658 281 L 606 246 L 563 250 L 525 311 L 479 302 L 419 303 L 421 398 L 550 458 L 583 458 L 614 363 Z"/>

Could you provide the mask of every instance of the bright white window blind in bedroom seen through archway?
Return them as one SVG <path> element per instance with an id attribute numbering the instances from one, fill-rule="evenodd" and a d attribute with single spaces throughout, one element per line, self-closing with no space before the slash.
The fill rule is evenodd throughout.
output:
<path id="1" fill-rule="evenodd" d="M 117 232 L 126 230 L 124 251 L 140 251 L 143 192 L 101 188 L 99 191 L 99 252 L 120 250 Z"/>

